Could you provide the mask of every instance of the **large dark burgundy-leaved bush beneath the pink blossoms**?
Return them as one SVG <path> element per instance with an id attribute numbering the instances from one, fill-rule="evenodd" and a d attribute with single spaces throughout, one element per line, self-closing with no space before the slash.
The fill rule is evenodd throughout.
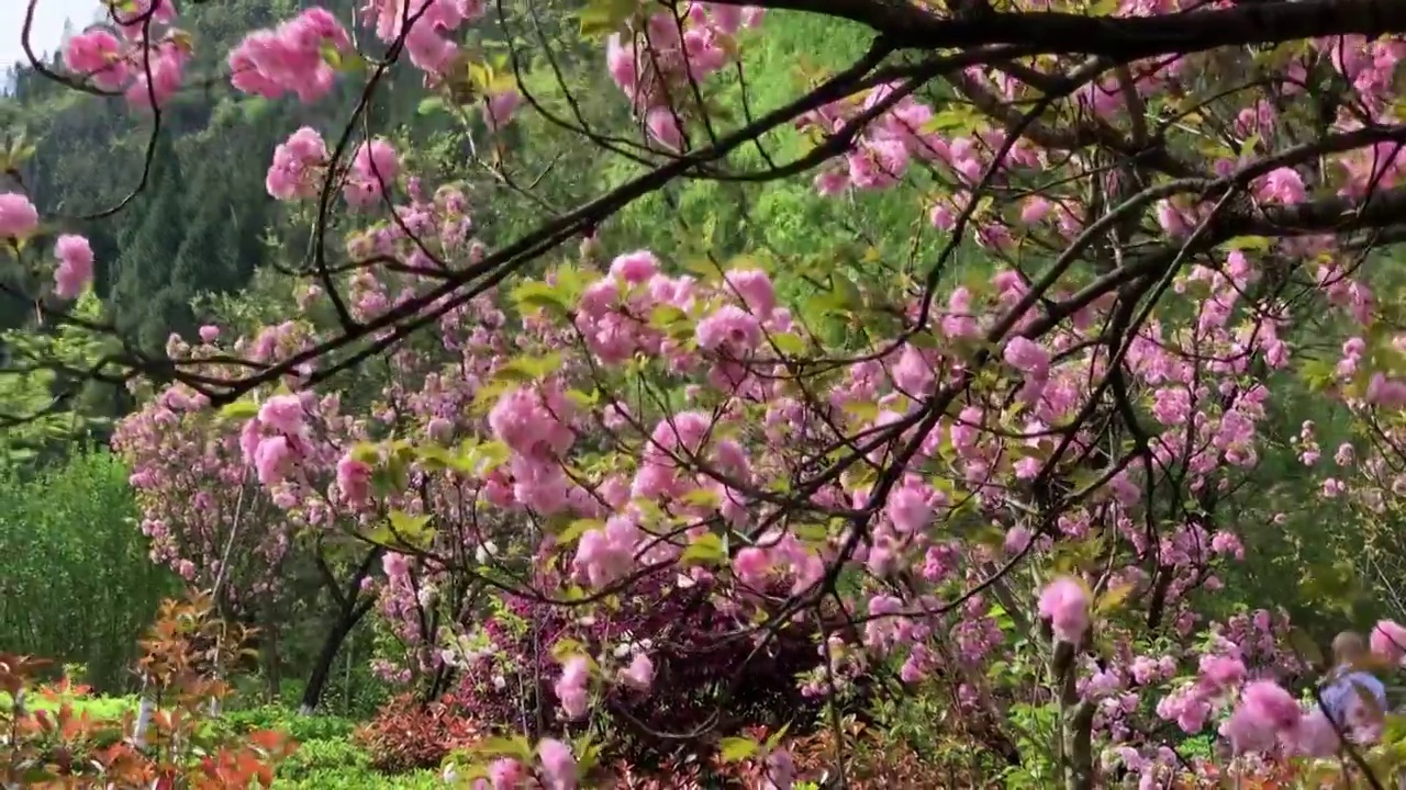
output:
<path id="1" fill-rule="evenodd" d="M 583 620 L 583 621 L 582 621 Z M 592 655 L 621 655 L 631 644 L 648 645 L 655 665 L 647 696 L 613 689 L 603 713 L 610 724 L 612 753 L 697 753 L 707 744 L 661 738 L 699 728 L 721 713 L 717 732 L 754 724 L 799 725 L 818 706 L 797 689 L 796 676 L 814 669 L 814 626 L 782 628 L 762 649 L 754 635 L 740 638 L 735 619 L 710 597 L 710 586 L 678 586 L 659 578 L 636 585 L 607 616 L 581 619 L 571 607 L 509 596 L 484 631 L 489 651 L 460 675 L 456 700 L 488 727 L 538 734 L 560 730 L 553 682 L 561 666 L 548 647 L 579 645 Z"/>

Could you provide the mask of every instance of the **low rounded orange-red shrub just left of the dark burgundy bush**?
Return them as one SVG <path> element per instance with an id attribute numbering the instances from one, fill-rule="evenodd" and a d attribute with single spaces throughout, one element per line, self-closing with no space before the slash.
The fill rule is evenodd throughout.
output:
<path id="1" fill-rule="evenodd" d="M 482 737 L 461 711 L 451 696 L 429 704 L 412 694 L 399 696 L 357 730 L 356 741 L 371 755 L 371 765 L 385 773 L 439 768 L 451 751 L 472 746 Z"/>

